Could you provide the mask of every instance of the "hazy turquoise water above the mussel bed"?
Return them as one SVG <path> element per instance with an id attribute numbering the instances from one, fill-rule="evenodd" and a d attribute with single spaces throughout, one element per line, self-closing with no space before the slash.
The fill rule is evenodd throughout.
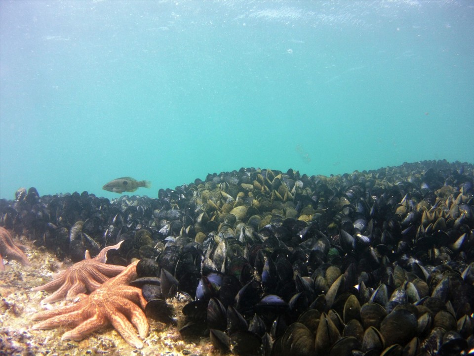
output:
<path id="1" fill-rule="evenodd" d="M 472 1 L 2 0 L 0 198 L 474 163 L 473 29 Z"/>

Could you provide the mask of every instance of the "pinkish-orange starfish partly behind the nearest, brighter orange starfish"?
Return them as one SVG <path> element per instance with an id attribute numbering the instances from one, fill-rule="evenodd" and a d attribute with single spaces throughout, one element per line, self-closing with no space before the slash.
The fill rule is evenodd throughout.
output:
<path id="1" fill-rule="evenodd" d="M 123 271 L 125 267 L 116 265 L 107 265 L 107 251 L 118 249 L 117 245 L 103 248 L 99 254 L 90 258 L 89 251 L 85 252 L 85 260 L 75 263 L 65 271 L 60 272 L 59 276 L 49 283 L 32 288 L 33 291 L 53 291 L 49 297 L 43 299 L 41 303 L 53 303 L 66 297 L 73 299 L 80 293 L 90 293 L 100 287 L 102 283 L 110 277 L 116 276 Z"/>

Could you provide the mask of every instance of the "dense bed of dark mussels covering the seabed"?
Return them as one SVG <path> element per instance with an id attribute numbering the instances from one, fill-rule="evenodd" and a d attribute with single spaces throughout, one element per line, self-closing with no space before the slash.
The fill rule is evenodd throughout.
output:
<path id="1" fill-rule="evenodd" d="M 474 166 L 331 177 L 240 169 L 160 189 L 0 201 L 0 224 L 58 256 L 123 240 L 133 283 L 183 337 L 238 355 L 463 355 L 474 349 Z M 148 308 L 148 312 L 153 308 Z M 153 313 L 153 312 L 151 312 Z"/>

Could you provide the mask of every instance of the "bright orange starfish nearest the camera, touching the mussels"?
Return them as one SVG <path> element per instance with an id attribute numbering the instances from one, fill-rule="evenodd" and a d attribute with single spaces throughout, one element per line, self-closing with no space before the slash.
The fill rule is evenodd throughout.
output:
<path id="1" fill-rule="evenodd" d="M 145 309 L 147 301 L 140 288 L 127 285 L 137 277 L 137 263 L 126 267 L 91 294 L 80 294 L 79 302 L 75 304 L 34 314 L 33 320 L 46 320 L 33 325 L 33 329 L 72 326 L 74 329 L 64 333 L 61 340 L 82 340 L 112 324 L 128 344 L 141 349 L 143 342 L 136 335 L 136 330 L 142 339 L 150 330 L 141 309 Z"/>

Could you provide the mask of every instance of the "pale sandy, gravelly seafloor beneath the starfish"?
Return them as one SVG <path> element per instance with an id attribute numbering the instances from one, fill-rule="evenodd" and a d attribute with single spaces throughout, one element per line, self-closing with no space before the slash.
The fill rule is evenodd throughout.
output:
<path id="1" fill-rule="evenodd" d="M 15 241 L 18 238 L 14 237 Z M 143 349 L 128 345 L 115 329 L 98 331 L 81 341 L 61 341 L 67 328 L 33 330 L 36 321 L 31 316 L 45 309 L 65 305 L 66 301 L 41 305 L 40 301 L 49 293 L 33 292 L 31 288 L 52 280 L 54 274 L 72 265 L 71 261 L 59 261 L 43 248 L 36 248 L 31 241 L 20 239 L 30 246 L 26 252 L 32 266 L 23 266 L 16 261 L 4 259 L 5 270 L 0 271 L 0 356 L 10 355 L 166 355 L 203 356 L 220 355 L 209 338 L 184 341 L 178 329 L 183 321 L 181 309 L 186 297 L 167 302 L 174 307 L 176 325 L 167 325 L 148 318 L 150 334 L 144 340 Z"/>

